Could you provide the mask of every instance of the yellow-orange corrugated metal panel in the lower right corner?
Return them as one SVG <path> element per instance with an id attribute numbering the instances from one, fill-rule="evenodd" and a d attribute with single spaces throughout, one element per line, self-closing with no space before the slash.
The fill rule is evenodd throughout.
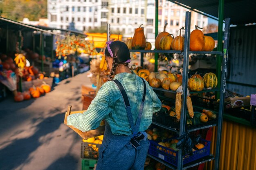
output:
<path id="1" fill-rule="evenodd" d="M 215 153 L 216 127 L 213 128 L 211 154 Z M 214 161 L 205 170 L 213 170 Z M 256 129 L 224 121 L 222 126 L 219 170 L 256 170 Z"/>

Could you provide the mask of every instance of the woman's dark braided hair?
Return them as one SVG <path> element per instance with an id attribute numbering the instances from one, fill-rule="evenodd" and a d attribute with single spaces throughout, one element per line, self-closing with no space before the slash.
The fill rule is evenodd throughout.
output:
<path id="1" fill-rule="evenodd" d="M 117 66 L 119 64 L 123 64 L 127 66 L 128 63 L 125 63 L 125 61 L 131 58 L 130 58 L 130 51 L 124 42 L 113 41 L 109 46 L 113 53 L 112 69 L 110 72 L 110 76 L 108 78 L 108 80 L 110 81 L 110 80 L 113 80 L 115 76 Z M 105 49 L 105 56 L 111 57 L 110 52 L 108 51 L 108 48 Z"/>

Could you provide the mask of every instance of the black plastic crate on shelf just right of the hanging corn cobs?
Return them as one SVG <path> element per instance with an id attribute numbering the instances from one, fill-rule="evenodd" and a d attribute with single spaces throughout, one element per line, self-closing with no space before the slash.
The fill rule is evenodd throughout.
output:
<path id="1" fill-rule="evenodd" d="M 215 99 L 210 98 L 203 98 L 198 96 L 191 96 L 191 100 L 193 105 L 200 106 L 200 107 L 206 107 L 209 109 L 214 109 L 213 102 L 216 101 Z"/>

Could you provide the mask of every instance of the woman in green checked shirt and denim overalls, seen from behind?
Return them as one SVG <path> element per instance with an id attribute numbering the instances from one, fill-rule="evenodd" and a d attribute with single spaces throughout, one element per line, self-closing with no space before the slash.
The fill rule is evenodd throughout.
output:
<path id="1" fill-rule="evenodd" d="M 109 81 L 103 84 L 88 110 L 68 116 L 67 124 L 84 132 L 96 129 L 105 119 L 97 170 L 143 170 L 149 147 L 144 131 L 152 123 L 153 113 L 161 109 L 161 102 L 144 79 L 130 72 L 126 44 L 107 44 Z"/>

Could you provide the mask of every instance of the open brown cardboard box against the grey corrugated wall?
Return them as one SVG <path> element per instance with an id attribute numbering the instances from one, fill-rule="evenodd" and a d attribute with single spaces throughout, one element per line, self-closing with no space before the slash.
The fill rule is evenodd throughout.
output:
<path id="1" fill-rule="evenodd" d="M 250 97 L 229 97 L 225 99 L 225 109 L 250 106 Z"/>

